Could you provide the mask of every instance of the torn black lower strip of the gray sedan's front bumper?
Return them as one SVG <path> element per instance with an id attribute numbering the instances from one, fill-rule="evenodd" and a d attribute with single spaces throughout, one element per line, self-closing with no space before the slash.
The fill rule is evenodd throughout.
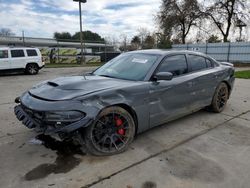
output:
<path id="1" fill-rule="evenodd" d="M 41 121 L 38 123 L 35 118 L 31 117 L 22 105 L 17 105 L 14 108 L 15 115 L 19 121 L 21 121 L 27 128 L 34 129 L 38 133 L 42 133 L 50 136 L 59 136 L 60 139 L 64 139 L 77 131 L 80 128 L 84 128 L 93 123 L 92 119 L 83 118 L 77 122 L 71 123 L 66 126 L 58 127 L 55 125 L 47 125 L 46 122 Z"/>

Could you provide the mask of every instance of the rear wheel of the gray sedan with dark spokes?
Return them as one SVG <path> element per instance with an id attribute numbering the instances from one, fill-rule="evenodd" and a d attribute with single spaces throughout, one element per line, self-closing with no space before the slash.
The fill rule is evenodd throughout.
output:
<path id="1" fill-rule="evenodd" d="M 228 97 L 229 91 L 227 84 L 222 82 L 215 90 L 210 109 L 216 113 L 222 112 L 225 109 Z"/>

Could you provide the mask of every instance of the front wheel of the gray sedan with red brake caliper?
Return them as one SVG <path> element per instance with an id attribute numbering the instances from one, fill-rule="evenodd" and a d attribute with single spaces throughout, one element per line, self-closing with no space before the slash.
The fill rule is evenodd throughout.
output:
<path id="1" fill-rule="evenodd" d="M 126 110 L 114 106 L 104 109 L 83 131 L 88 152 L 108 156 L 124 152 L 129 147 L 134 139 L 135 123 Z"/>

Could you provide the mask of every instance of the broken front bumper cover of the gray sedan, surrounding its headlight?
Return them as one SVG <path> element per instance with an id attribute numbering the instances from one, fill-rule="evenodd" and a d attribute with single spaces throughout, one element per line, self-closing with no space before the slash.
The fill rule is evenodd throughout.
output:
<path id="1" fill-rule="evenodd" d="M 82 102 L 77 100 L 46 101 L 35 98 L 28 92 L 24 93 L 21 97 L 16 98 L 15 102 L 18 104 L 14 109 L 17 119 L 29 129 L 34 129 L 36 132 L 46 135 L 69 135 L 80 128 L 91 125 L 100 111 L 97 107 L 86 104 L 83 105 Z M 80 111 L 85 113 L 86 116 L 78 121 L 62 125 L 56 125 L 56 122 L 53 125 L 51 122 L 47 124 L 43 118 L 37 121 L 37 118 L 34 117 L 36 112 L 44 113 L 49 111 L 53 112 L 67 110 Z"/>

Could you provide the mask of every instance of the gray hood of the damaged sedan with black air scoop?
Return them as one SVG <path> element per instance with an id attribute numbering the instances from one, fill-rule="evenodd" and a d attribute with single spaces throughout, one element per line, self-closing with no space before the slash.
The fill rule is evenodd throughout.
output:
<path id="1" fill-rule="evenodd" d="M 69 100 L 79 96 L 131 84 L 131 81 L 101 76 L 71 76 L 46 81 L 34 86 L 29 93 L 44 100 Z"/>

